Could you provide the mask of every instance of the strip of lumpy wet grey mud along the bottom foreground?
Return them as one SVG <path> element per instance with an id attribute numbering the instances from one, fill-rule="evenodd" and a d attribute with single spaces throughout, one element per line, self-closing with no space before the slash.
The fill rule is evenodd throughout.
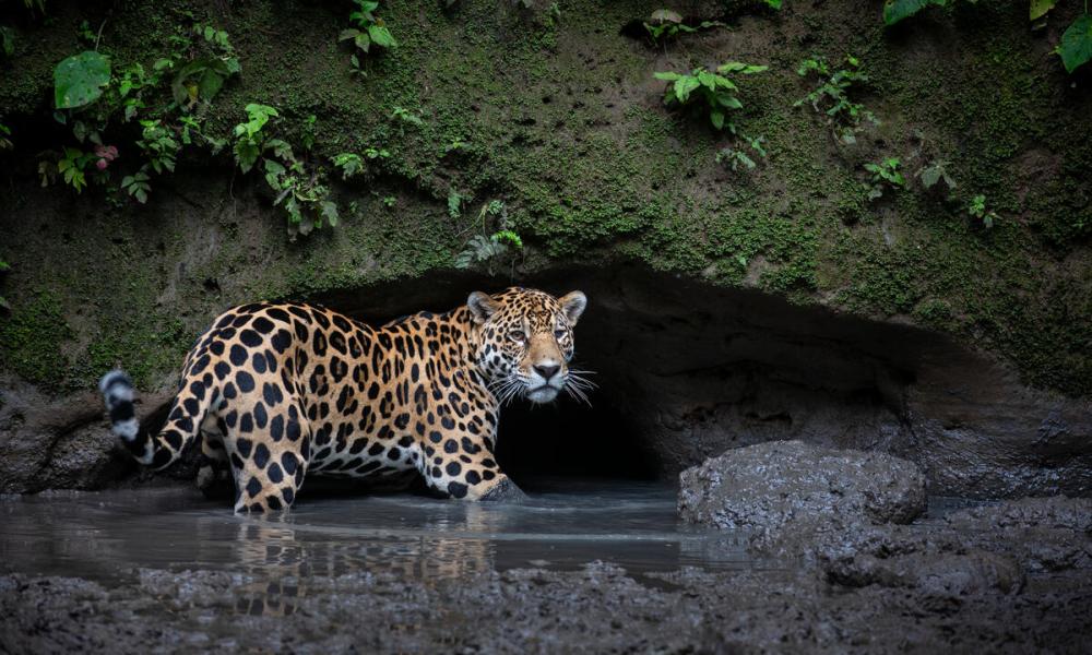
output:
<path id="1" fill-rule="evenodd" d="M 143 570 L 107 588 L 0 577 L 8 652 L 928 652 L 1078 653 L 1092 639 L 1088 575 L 1019 592 L 848 591 L 806 572 L 634 577 L 609 563 L 518 569 L 435 585 L 366 573 L 310 579 L 306 597 L 237 607 L 223 572 Z M 252 612 L 252 614 L 251 614 Z"/>

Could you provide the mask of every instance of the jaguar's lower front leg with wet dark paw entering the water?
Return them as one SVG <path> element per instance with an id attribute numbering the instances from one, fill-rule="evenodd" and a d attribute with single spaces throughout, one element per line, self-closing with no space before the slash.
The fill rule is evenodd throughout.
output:
<path id="1" fill-rule="evenodd" d="M 420 473 L 428 486 L 451 498 L 521 502 L 526 495 L 494 458 L 485 439 L 471 433 L 431 432 L 425 440 Z"/>

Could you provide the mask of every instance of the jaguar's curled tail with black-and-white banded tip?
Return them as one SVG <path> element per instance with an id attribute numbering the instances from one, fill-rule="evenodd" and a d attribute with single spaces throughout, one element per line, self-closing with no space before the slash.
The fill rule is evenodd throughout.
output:
<path id="1" fill-rule="evenodd" d="M 193 443 L 212 403 L 212 390 L 204 389 L 201 382 L 183 385 L 175 396 L 167 424 L 158 434 L 152 434 L 136 418 L 133 383 L 124 371 L 106 373 L 98 389 L 106 400 L 114 433 L 138 462 L 157 469 L 169 466 Z"/>

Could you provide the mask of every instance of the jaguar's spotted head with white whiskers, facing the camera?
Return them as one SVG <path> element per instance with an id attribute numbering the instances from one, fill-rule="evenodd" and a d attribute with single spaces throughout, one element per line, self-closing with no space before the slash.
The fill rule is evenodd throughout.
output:
<path id="1" fill-rule="evenodd" d="M 474 291 L 466 305 L 479 336 L 478 369 L 501 403 L 519 396 L 548 403 L 562 390 L 587 400 L 583 371 L 569 369 L 572 329 L 587 305 L 582 293 L 555 298 L 512 287 L 495 296 Z"/>

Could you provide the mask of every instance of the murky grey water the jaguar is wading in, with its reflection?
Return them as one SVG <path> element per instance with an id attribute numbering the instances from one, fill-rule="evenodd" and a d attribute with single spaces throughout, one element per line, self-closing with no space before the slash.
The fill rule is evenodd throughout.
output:
<path id="1" fill-rule="evenodd" d="M 309 580 L 349 573 L 435 584 L 594 560 L 631 573 L 753 565 L 746 535 L 680 525 L 672 489 L 634 483 L 567 480 L 524 505 L 310 499 L 280 516 L 235 516 L 175 489 L 9 497 L 0 525 L 0 571 L 105 582 L 135 569 L 221 571 L 240 614 L 292 614 Z"/>

